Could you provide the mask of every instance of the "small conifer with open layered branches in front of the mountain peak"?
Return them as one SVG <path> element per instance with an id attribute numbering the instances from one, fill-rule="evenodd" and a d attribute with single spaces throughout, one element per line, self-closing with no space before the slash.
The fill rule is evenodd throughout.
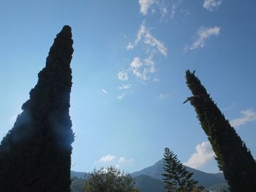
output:
<path id="1" fill-rule="evenodd" d="M 197 186 L 198 181 L 192 179 L 193 173 L 188 172 L 186 167 L 178 160 L 177 155 L 165 147 L 164 170 L 162 174 L 165 188 L 168 192 L 191 192 L 203 191 L 202 186 Z"/>

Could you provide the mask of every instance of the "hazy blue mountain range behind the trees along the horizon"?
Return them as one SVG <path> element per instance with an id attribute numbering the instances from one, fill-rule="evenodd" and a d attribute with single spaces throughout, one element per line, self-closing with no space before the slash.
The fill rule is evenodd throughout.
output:
<path id="1" fill-rule="evenodd" d="M 136 186 L 140 189 L 140 192 L 165 192 L 165 183 L 162 181 L 162 173 L 164 161 L 159 160 L 153 166 L 148 166 L 139 172 L 131 173 L 132 177 L 136 182 Z M 222 173 L 212 174 L 201 172 L 197 169 L 192 169 L 189 166 L 185 166 L 187 171 L 192 172 L 192 178 L 197 180 L 199 185 L 203 185 L 208 190 L 215 191 L 228 191 L 228 185 Z M 81 188 L 85 172 L 73 172 L 71 171 L 72 192 L 80 192 L 76 189 Z"/>

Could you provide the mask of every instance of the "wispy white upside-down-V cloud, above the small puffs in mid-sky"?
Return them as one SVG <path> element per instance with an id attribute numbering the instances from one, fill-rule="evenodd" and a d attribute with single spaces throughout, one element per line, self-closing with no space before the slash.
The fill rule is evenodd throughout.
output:
<path id="1" fill-rule="evenodd" d="M 145 20 L 143 20 L 143 23 L 140 25 L 140 29 L 137 34 L 137 39 L 135 39 L 135 42 L 129 42 L 127 45 L 127 50 L 130 50 L 134 48 L 138 43 L 143 40 L 143 43 L 146 45 L 149 45 L 151 48 L 156 48 L 156 50 L 159 51 L 162 55 L 165 57 L 167 56 L 167 48 L 165 45 L 160 42 L 158 39 L 152 36 L 148 28 L 146 28 Z"/>

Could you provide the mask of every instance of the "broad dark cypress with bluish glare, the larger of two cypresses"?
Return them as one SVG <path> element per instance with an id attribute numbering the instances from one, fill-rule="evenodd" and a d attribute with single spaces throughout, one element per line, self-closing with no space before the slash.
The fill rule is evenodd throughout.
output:
<path id="1" fill-rule="evenodd" d="M 23 112 L 1 141 L 0 191 L 70 191 L 72 44 L 71 28 L 64 26 Z"/>

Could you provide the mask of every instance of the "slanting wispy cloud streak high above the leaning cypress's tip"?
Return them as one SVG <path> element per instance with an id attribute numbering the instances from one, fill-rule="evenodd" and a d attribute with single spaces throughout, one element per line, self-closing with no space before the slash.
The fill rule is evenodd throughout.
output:
<path id="1" fill-rule="evenodd" d="M 187 50 L 195 50 L 198 47 L 204 47 L 205 42 L 207 39 L 209 39 L 213 35 L 218 35 L 220 32 L 220 27 L 214 26 L 214 27 L 200 27 L 197 31 L 197 38 L 194 42 L 192 42 L 192 45 L 186 46 L 184 48 L 185 51 Z"/>

